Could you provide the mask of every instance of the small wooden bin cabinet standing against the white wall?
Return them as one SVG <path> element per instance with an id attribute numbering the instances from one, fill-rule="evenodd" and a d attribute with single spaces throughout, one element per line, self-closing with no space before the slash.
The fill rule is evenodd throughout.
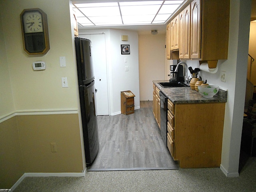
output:
<path id="1" fill-rule="evenodd" d="M 121 113 L 129 115 L 134 113 L 134 97 L 135 95 L 129 91 L 121 91 Z"/>

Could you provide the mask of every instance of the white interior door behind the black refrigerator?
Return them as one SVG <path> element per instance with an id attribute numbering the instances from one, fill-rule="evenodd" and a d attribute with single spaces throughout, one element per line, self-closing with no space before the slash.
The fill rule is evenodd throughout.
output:
<path id="1" fill-rule="evenodd" d="M 79 35 L 92 41 L 97 115 L 109 115 L 105 34 Z"/>

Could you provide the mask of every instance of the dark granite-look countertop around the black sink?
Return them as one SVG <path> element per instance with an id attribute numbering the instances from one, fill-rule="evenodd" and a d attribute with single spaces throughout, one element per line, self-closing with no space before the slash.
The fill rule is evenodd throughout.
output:
<path id="1" fill-rule="evenodd" d="M 174 104 L 182 103 L 222 103 L 227 102 L 228 92 L 219 89 L 218 93 L 212 98 L 204 98 L 196 90 L 190 87 L 170 87 L 162 88 L 158 82 L 168 82 L 166 80 L 153 81 L 157 88 L 163 92 Z"/>

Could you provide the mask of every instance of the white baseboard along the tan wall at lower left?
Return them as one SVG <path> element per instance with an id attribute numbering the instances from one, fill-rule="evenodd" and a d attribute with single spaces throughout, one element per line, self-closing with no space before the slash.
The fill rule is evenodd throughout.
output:
<path id="1" fill-rule="evenodd" d="M 86 172 L 87 168 L 82 173 L 24 173 L 11 187 L 11 191 L 13 191 L 26 177 L 84 177 Z"/>

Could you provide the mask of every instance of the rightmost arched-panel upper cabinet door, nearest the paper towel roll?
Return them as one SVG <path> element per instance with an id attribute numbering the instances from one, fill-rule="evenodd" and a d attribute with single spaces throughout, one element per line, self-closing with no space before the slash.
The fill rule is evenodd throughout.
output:
<path id="1" fill-rule="evenodd" d="M 200 58 L 201 52 L 201 8 L 200 0 L 191 3 L 191 49 L 190 58 Z"/>

